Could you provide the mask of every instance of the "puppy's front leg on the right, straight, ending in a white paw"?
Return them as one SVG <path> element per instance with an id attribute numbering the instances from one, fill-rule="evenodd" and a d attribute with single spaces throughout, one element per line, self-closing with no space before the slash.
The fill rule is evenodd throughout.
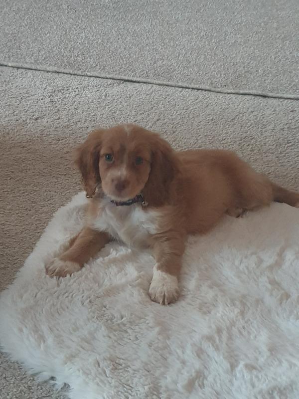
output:
<path id="1" fill-rule="evenodd" d="M 179 296 L 178 277 L 185 247 L 184 238 L 175 233 L 173 237 L 157 236 L 155 239 L 153 250 L 156 264 L 149 296 L 161 305 L 175 302 Z"/>

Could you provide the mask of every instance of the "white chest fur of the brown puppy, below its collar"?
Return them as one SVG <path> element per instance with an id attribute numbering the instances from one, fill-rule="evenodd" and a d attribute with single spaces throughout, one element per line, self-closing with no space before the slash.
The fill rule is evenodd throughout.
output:
<path id="1" fill-rule="evenodd" d="M 157 232 L 158 218 L 159 212 L 146 209 L 140 203 L 116 206 L 103 199 L 91 225 L 127 245 L 144 247 L 149 245 L 149 234 Z"/>

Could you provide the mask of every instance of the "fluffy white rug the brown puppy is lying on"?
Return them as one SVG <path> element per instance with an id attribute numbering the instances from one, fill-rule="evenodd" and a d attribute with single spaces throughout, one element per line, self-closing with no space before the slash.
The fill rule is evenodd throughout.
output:
<path id="1" fill-rule="evenodd" d="M 72 399 L 299 397 L 298 209 L 273 204 L 190 237 L 182 295 L 163 307 L 148 296 L 151 254 L 116 243 L 72 277 L 45 275 L 85 203 L 55 214 L 1 294 L 4 351 Z"/>

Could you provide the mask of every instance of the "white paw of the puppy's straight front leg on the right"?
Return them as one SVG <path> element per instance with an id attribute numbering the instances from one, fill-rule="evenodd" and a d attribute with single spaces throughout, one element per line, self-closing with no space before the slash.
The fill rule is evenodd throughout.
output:
<path id="1" fill-rule="evenodd" d="M 177 277 L 154 268 L 149 296 L 152 301 L 160 305 L 175 302 L 179 296 Z"/>

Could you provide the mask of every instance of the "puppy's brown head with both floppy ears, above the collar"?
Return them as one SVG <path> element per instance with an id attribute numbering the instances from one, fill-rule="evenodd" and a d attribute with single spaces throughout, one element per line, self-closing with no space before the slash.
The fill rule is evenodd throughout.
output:
<path id="1" fill-rule="evenodd" d="M 143 194 L 158 206 L 177 172 L 175 152 L 159 137 L 137 125 L 93 131 L 77 149 L 76 164 L 88 197 L 100 185 L 112 200 Z"/>

